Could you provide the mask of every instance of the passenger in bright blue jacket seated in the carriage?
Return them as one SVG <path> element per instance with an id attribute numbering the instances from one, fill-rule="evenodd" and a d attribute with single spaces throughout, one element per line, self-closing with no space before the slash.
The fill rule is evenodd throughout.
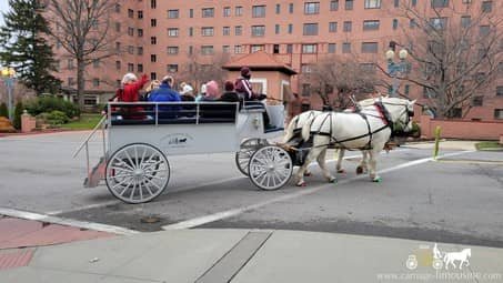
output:
<path id="1" fill-rule="evenodd" d="M 174 79 L 171 75 L 165 75 L 159 89 L 153 90 L 149 97 L 149 101 L 152 102 L 179 102 L 181 101 L 180 94 L 171 89 L 173 85 Z M 175 118 L 180 105 L 160 105 L 159 107 L 159 118 Z"/>

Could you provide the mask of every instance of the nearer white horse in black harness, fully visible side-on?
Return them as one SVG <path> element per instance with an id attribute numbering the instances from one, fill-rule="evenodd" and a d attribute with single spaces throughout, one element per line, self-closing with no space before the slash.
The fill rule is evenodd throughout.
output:
<path id="1" fill-rule="evenodd" d="M 304 164 L 296 173 L 298 185 L 305 185 L 303 174 L 312 160 L 318 159 L 323 175 L 329 181 L 335 178 L 324 164 L 324 155 L 330 144 L 344 149 L 369 150 L 370 176 L 373 181 L 381 180 L 376 175 L 376 158 L 390 139 L 394 124 L 401 124 L 405 132 L 412 130 L 411 117 L 414 101 L 399 98 L 378 99 L 379 105 L 368 105 L 359 113 L 323 112 L 305 121 L 302 138 L 308 141 L 313 132 L 313 146 Z"/>

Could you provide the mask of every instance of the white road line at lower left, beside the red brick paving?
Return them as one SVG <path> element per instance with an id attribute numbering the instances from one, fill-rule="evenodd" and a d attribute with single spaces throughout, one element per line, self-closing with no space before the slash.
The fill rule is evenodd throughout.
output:
<path id="1" fill-rule="evenodd" d="M 0 214 L 10 216 L 10 218 L 43 221 L 43 222 L 48 222 L 48 223 L 52 223 L 52 224 L 60 224 L 60 225 L 67 225 L 67 226 L 73 226 L 73 228 L 83 228 L 83 229 L 88 229 L 88 230 L 101 231 L 101 232 L 120 234 L 120 235 L 131 235 L 131 234 L 140 233 L 139 231 L 124 229 L 124 228 L 120 228 L 120 226 L 113 226 L 113 225 L 107 225 L 107 224 L 93 223 L 93 222 L 87 222 L 87 221 L 78 221 L 78 220 L 72 220 L 72 219 L 62 219 L 62 218 L 50 216 L 50 215 L 44 215 L 44 214 L 39 214 L 39 213 L 33 213 L 33 212 L 28 212 L 28 211 L 7 209 L 7 208 L 0 208 Z"/>

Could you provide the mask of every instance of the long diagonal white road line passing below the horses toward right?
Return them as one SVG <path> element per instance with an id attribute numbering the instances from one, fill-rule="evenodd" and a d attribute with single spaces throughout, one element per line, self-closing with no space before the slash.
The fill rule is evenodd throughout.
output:
<path id="1" fill-rule="evenodd" d="M 455 153 L 447 153 L 447 154 L 443 154 L 443 155 L 439 156 L 439 159 L 446 158 L 446 156 L 454 156 L 454 155 L 465 154 L 465 153 L 470 153 L 470 152 L 473 152 L 473 151 L 462 151 L 462 152 L 455 152 Z M 401 169 L 419 165 L 419 164 L 422 164 L 422 163 L 426 163 L 429 161 L 433 161 L 433 158 L 425 158 L 425 159 L 414 160 L 414 161 L 406 162 L 406 163 L 403 163 L 403 164 L 400 164 L 400 165 L 396 165 L 396 166 L 392 166 L 392 168 L 389 168 L 389 169 L 381 170 L 378 173 L 383 174 L 383 173 L 388 173 L 388 172 L 392 172 L 392 171 L 396 171 L 396 170 L 401 170 Z M 351 179 L 345 179 L 345 180 L 340 181 L 339 184 L 345 184 L 345 183 L 349 183 L 349 182 L 352 182 L 352 181 L 355 181 L 355 180 L 359 180 L 359 179 L 363 179 L 363 178 L 368 178 L 368 176 L 366 175 L 353 176 Z M 194 226 L 200 226 L 200 225 L 208 224 L 208 223 L 211 223 L 211 222 L 215 222 L 215 221 L 219 221 L 219 220 L 232 218 L 232 216 L 242 214 L 242 213 L 244 213 L 247 211 L 252 211 L 252 210 L 269 205 L 271 203 L 283 202 L 283 201 L 288 201 L 288 200 L 295 199 L 295 198 L 299 198 L 299 196 L 313 194 L 313 193 L 315 193 L 318 191 L 321 191 L 321 190 L 328 189 L 328 188 L 333 188 L 333 184 L 323 184 L 323 185 L 314 186 L 314 188 L 309 189 L 309 190 L 298 191 L 298 192 L 294 192 L 294 193 L 290 193 L 290 194 L 286 194 L 286 195 L 274 198 L 274 199 L 271 199 L 271 200 L 268 200 L 268 201 L 264 201 L 264 202 L 247 205 L 247 206 L 243 206 L 243 208 L 228 210 L 228 211 L 222 211 L 222 212 L 218 212 L 218 213 L 213 213 L 213 214 L 209 214 L 209 215 L 204 215 L 204 216 L 200 216 L 200 218 L 195 218 L 195 219 L 191 219 L 191 220 L 187 220 L 187 221 L 181 221 L 179 223 L 164 225 L 164 226 L 162 226 L 162 229 L 163 230 L 179 230 L 179 229 L 190 229 L 190 228 L 194 228 Z"/>

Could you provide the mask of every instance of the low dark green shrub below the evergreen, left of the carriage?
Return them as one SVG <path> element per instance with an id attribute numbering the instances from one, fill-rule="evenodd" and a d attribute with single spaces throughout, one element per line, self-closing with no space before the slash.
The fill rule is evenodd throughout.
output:
<path id="1" fill-rule="evenodd" d="M 27 103 L 26 109 L 32 115 L 39 115 L 44 112 L 51 113 L 52 111 L 58 110 L 63 112 L 67 118 L 80 117 L 80 109 L 78 105 L 54 97 L 44 95 L 30 100 Z"/>

